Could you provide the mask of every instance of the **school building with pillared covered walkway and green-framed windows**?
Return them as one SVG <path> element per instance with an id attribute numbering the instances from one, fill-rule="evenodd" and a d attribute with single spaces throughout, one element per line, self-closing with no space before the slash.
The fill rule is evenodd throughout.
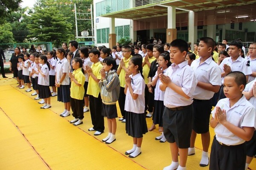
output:
<path id="1" fill-rule="evenodd" d="M 193 44 L 200 37 L 256 41 L 256 0 L 93 0 L 96 46 L 151 37 Z M 246 46 L 246 45 L 244 45 Z"/>

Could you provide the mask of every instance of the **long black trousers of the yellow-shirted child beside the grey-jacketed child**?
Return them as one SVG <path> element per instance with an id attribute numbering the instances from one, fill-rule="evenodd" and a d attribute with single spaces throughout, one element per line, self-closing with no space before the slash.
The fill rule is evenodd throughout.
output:
<path id="1" fill-rule="evenodd" d="M 93 124 L 93 129 L 104 132 L 104 117 L 102 116 L 102 99 L 99 94 L 98 98 L 89 95 L 89 107 Z"/>

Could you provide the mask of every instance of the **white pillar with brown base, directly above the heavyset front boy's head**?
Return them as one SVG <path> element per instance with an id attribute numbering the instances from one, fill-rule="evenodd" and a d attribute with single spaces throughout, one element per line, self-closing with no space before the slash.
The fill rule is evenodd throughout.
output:
<path id="1" fill-rule="evenodd" d="M 170 6 L 167 8 L 167 17 L 166 42 L 171 43 L 173 40 L 177 39 L 175 7 Z"/>

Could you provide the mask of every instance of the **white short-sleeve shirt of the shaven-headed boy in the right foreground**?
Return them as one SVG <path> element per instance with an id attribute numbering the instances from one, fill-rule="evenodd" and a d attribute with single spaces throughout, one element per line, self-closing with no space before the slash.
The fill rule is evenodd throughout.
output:
<path id="1" fill-rule="evenodd" d="M 218 101 L 217 105 L 226 110 L 227 121 L 236 127 L 254 127 L 256 128 L 256 110 L 243 95 L 236 104 L 230 108 L 230 99 L 224 98 Z M 216 107 L 212 110 L 212 117 L 215 117 Z M 218 123 L 214 128 L 217 141 L 226 145 L 239 145 L 244 143 L 244 139 L 239 138 L 230 132 L 222 124 Z"/>

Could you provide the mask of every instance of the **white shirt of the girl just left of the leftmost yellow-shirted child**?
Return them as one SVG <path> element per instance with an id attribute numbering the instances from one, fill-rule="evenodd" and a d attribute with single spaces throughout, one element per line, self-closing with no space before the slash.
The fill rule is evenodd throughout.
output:
<path id="1" fill-rule="evenodd" d="M 59 60 L 56 63 L 55 71 L 56 71 L 55 76 L 56 76 L 57 83 L 60 82 L 61 76 L 63 75 L 63 73 L 67 73 L 64 80 L 61 82 L 61 85 L 69 85 L 70 84 L 70 78 L 69 78 L 70 69 L 69 69 L 69 63 L 67 61 L 67 58 L 63 58 L 62 60 Z"/>

